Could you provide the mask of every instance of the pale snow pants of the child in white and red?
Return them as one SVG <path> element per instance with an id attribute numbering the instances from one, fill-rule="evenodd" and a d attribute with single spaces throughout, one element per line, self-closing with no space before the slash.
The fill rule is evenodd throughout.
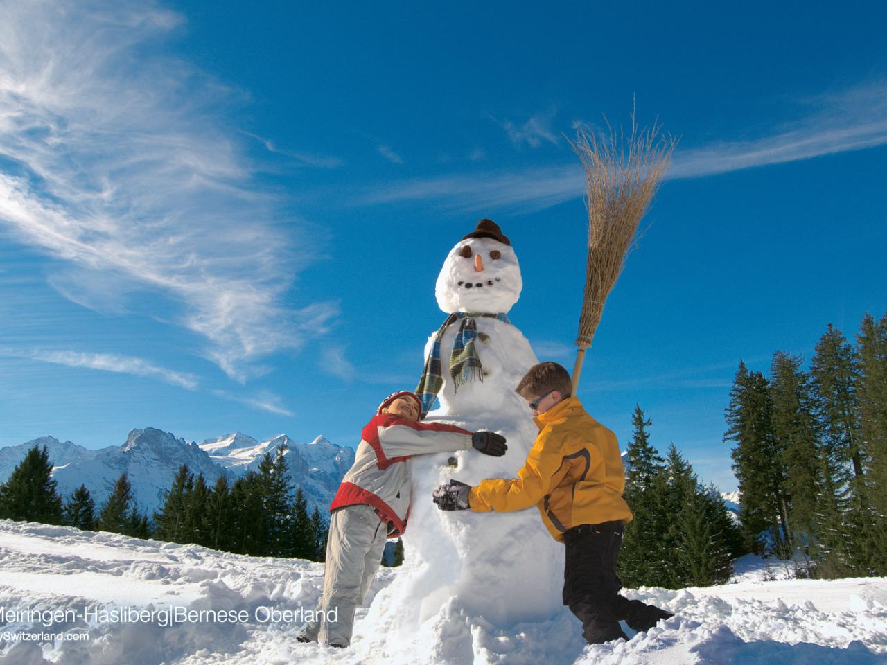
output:
<path id="1" fill-rule="evenodd" d="M 324 592 L 317 620 L 305 627 L 304 637 L 350 644 L 354 612 L 370 591 L 387 537 L 388 525 L 369 505 L 349 505 L 333 512 L 326 541 Z"/>

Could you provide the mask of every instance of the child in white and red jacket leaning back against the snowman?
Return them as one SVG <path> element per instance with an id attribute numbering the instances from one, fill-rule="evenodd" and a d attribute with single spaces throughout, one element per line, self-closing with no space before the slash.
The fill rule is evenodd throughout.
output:
<path id="1" fill-rule="evenodd" d="M 421 423 L 421 408 L 419 396 L 403 390 L 386 397 L 364 426 L 354 465 L 330 505 L 324 592 L 316 621 L 305 627 L 300 642 L 350 644 L 355 610 L 373 583 L 385 541 L 406 528 L 413 455 L 472 446 L 485 455 L 505 455 L 504 436 Z"/>

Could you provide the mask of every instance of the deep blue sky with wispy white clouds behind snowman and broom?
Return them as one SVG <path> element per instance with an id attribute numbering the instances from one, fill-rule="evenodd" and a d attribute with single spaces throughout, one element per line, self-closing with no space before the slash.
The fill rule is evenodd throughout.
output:
<path id="1" fill-rule="evenodd" d="M 734 489 L 740 358 L 887 310 L 883 4 L 4 3 L 0 445 L 354 444 L 413 387 L 477 219 L 572 363 L 578 122 L 679 137 L 579 397 Z M 309 5 L 309 4 L 306 4 Z M 515 467 L 517 462 L 515 462 Z"/>

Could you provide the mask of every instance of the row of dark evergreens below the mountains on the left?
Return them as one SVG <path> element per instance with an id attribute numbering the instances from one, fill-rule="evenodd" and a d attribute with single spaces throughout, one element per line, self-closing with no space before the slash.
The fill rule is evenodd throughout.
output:
<path id="1" fill-rule="evenodd" d="M 89 489 L 81 485 L 63 500 L 52 479 L 46 445 L 28 450 L 9 479 L 0 484 L 0 518 L 102 530 L 178 544 L 199 544 L 222 552 L 323 561 L 328 526 L 318 507 L 309 513 L 302 488 L 293 491 L 281 444 L 264 454 L 257 471 L 229 487 L 219 476 L 209 487 L 179 467 L 163 504 L 149 520 L 139 512 L 126 472 L 96 511 Z"/>

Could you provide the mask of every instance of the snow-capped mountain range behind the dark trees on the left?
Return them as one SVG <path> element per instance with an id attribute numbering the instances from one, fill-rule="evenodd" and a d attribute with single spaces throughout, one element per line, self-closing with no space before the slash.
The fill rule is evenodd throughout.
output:
<path id="1" fill-rule="evenodd" d="M 88 450 L 75 443 L 59 442 L 52 436 L 0 449 L 0 481 L 9 478 L 27 451 L 46 446 L 53 465 L 52 477 L 62 497 L 86 485 L 96 505 L 102 505 L 124 471 L 130 479 L 140 511 L 158 509 L 163 491 L 169 489 L 178 468 L 185 464 L 196 476 L 203 473 L 212 486 L 221 475 L 233 483 L 248 471 L 258 469 L 265 452 L 286 443 L 287 469 L 293 487 L 302 488 L 309 510 L 317 505 L 325 512 L 342 476 L 354 462 L 354 450 L 335 446 L 322 436 L 313 442 L 294 442 L 286 434 L 258 442 L 246 434 L 228 434 L 203 443 L 185 442 L 153 427 L 134 429 L 122 446 Z"/>

